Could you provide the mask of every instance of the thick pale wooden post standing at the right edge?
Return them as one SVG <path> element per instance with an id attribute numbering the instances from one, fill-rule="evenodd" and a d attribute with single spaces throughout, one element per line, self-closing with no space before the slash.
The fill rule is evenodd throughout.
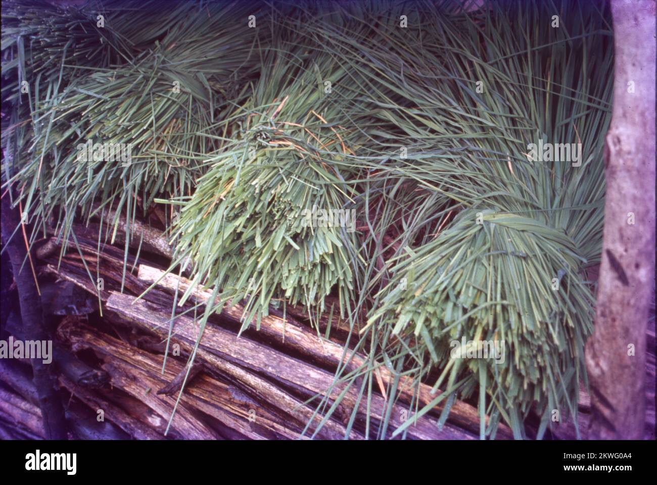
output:
<path id="1" fill-rule="evenodd" d="M 641 439 L 655 251 L 655 1 L 611 0 L 614 104 L 606 135 L 604 239 L 587 342 L 591 439 Z"/>

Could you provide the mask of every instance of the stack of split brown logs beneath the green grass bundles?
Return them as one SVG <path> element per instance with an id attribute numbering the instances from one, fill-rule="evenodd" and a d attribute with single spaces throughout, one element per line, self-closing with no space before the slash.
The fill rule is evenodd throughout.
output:
<path id="1" fill-rule="evenodd" d="M 125 221 L 120 229 L 124 225 Z M 162 256 L 171 255 L 160 242 L 161 235 L 141 225 L 136 225 L 136 231 L 132 229 L 142 246 L 139 264 L 132 255 L 124 260 L 122 247 L 99 244 L 101 228 L 93 225 L 74 228 L 77 244 L 70 244 L 61 260 L 61 242 L 55 237 L 42 241 L 34 252 L 40 277 L 55 275 L 58 281 L 85 290 L 100 304 L 100 317 L 98 313 L 66 315 L 57 324 L 53 363 L 58 367 L 55 374 L 72 438 L 263 440 L 346 436 L 360 440 L 366 435 L 382 438 L 379 428 L 388 413 L 385 438 L 390 438 L 405 420 L 413 419 L 414 411 L 440 394 L 432 394 L 426 384 L 413 386 L 402 377 L 399 400 L 389 412 L 386 389 L 394 377 L 382 365 L 375 373 L 371 401 L 365 398 L 359 402 L 362 382 L 357 369 L 366 359 L 353 350 L 344 351 L 348 327 L 324 316 L 314 321 L 317 331 L 300 308 L 288 307 L 285 315 L 272 309 L 261 319 L 259 330 L 254 323 L 240 333 L 242 307 L 225 307 L 204 327 L 190 367 L 188 358 L 202 330 L 198 321 L 212 294 L 192 288 L 184 277 L 165 275 L 163 265 L 168 260 Z M 117 241 L 125 243 L 120 238 Z M 102 286 L 94 284 L 98 278 Z M 188 290 L 189 301 L 175 306 L 172 312 L 175 299 Z M 654 327 L 651 331 L 654 341 Z M 654 382 L 654 359 L 654 355 L 648 356 L 648 382 Z M 352 372 L 355 385 L 346 389 L 336 383 L 338 368 Z M 325 420 L 317 412 L 318 405 L 327 410 L 341 394 L 344 398 Z M 654 423 L 654 394 L 647 397 L 652 400 L 648 412 Z M 582 438 L 586 437 L 588 402 L 582 392 Z M 28 361 L 1 360 L 0 438 L 41 438 L 41 413 L 36 403 Z M 404 437 L 477 439 L 480 423 L 476 407 L 454 402 L 449 419 L 440 426 L 444 403 L 407 427 Z M 365 418 L 368 409 L 369 423 Z M 553 429 L 552 436 L 558 438 L 576 436 L 572 419 L 562 419 Z M 500 424 L 495 439 L 509 438 L 512 432 Z"/>

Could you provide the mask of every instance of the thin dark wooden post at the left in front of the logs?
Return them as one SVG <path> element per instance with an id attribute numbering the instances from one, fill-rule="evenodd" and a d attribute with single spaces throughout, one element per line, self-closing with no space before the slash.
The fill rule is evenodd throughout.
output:
<path id="1" fill-rule="evenodd" d="M 32 271 L 29 263 L 26 263 L 27 250 L 19 232 L 10 237 L 20 223 L 18 211 L 11 208 L 9 194 L 5 193 L 2 198 L 2 216 L 0 217 L 2 236 L 7 246 L 7 254 L 11 261 L 14 281 L 18 289 L 20 300 L 20 314 L 23 322 L 23 334 L 25 340 L 49 340 L 43 327 L 43 311 L 41 309 L 41 298 L 37 293 Z M 32 359 L 32 371 L 34 372 L 34 385 L 39 397 L 39 407 L 43 417 L 43 428 L 45 437 L 49 440 L 66 440 L 66 421 L 64 419 L 64 407 L 57 391 L 55 381 L 49 373 L 49 365 L 43 363 L 42 359 Z"/>

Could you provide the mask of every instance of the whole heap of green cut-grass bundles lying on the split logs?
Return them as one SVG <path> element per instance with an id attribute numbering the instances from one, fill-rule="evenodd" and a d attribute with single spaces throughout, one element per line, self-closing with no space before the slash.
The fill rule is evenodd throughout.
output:
<path id="1" fill-rule="evenodd" d="M 191 262 L 214 292 L 201 328 L 238 301 L 246 329 L 271 306 L 317 317 L 335 298 L 367 359 L 334 383 L 363 400 L 385 366 L 390 404 L 402 377 L 428 383 L 443 392 L 415 416 L 443 402 L 442 424 L 474 402 L 482 438 L 501 422 L 525 438 L 532 419 L 541 438 L 553 409 L 576 415 L 602 242 L 606 7 L 155 5 L 107 3 L 97 28 L 95 11 L 3 4 L 3 181 L 24 211 L 65 236 L 102 207 L 170 204 L 170 271 Z M 79 163 L 92 137 L 132 143 L 133 160 Z M 581 165 L 532 159 L 539 140 L 581 144 Z M 309 224 L 312 210 L 353 211 L 353 230 Z M 504 358 L 454 358 L 463 340 Z"/>

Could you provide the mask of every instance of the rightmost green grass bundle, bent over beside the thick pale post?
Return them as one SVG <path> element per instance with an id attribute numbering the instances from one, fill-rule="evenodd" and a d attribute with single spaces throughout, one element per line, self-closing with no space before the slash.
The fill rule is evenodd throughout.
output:
<path id="1" fill-rule="evenodd" d="M 576 414 L 585 380 L 594 298 L 582 274 L 599 262 L 602 242 L 612 60 L 600 12 L 563 7 L 568 34 L 541 21 L 550 18 L 542 5 L 492 4 L 463 16 L 424 12 L 421 35 L 391 29 L 386 50 L 333 37 L 353 45 L 353 70 L 370 60 L 371 69 L 360 69 L 369 83 L 398 87 L 397 97 L 373 101 L 382 121 L 398 120 L 390 139 L 407 148 L 407 163 L 370 185 L 384 187 L 390 205 L 434 195 L 409 214 L 380 213 L 369 236 L 378 244 L 371 258 L 386 259 L 367 282 L 378 289 L 364 330 L 371 368 L 397 374 L 403 362 L 415 382 L 432 375 L 434 388 L 445 386 L 419 415 L 478 392 L 482 438 L 494 436 L 499 419 L 524 436 L 531 413 L 541 417 L 542 436 L 553 409 Z M 538 27 L 516 32 L 509 24 Z M 581 158 L 530 160 L 538 139 L 581 143 Z M 400 190 L 404 180 L 412 190 Z M 390 242 L 380 244 L 386 234 Z M 464 359 L 482 341 L 506 356 Z"/>

